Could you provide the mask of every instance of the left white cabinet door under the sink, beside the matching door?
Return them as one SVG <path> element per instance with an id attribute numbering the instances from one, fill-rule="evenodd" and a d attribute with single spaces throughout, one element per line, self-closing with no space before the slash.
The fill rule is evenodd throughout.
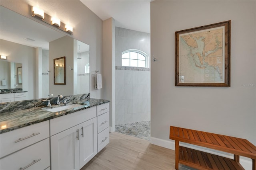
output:
<path id="1" fill-rule="evenodd" d="M 79 170 L 79 126 L 51 137 L 51 169 Z"/>

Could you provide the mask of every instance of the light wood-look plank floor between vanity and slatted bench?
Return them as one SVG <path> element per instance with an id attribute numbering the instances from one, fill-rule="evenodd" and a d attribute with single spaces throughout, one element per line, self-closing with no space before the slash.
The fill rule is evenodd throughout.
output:
<path id="1" fill-rule="evenodd" d="M 114 132 L 110 143 L 81 170 L 175 170 L 174 164 L 174 150 Z"/>

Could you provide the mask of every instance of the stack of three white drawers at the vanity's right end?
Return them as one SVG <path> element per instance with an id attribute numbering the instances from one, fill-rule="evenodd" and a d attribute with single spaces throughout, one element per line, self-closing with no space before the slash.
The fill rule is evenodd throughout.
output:
<path id="1" fill-rule="evenodd" d="M 109 103 L 97 106 L 98 152 L 109 143 Z"/>

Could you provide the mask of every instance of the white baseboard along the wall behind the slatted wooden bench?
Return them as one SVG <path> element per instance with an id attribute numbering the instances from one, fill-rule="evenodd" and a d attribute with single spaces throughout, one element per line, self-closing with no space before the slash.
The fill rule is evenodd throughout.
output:
<path id="1" fill-rule="evenodd" d="M 175 150 L 175 142 L 174 141 L 166 141 L 166 140 L 163 140 L 163 139 L 150 137 L 150 143 L 154 144 L 154 145 L 158 145 L 160 147 L 167 148 L 167 149 Z M 200 151 L 203 151 L 203 152 L 208 152 L 208 153 L 211 153 L 211 154 L 216 154 L 216 155 L 219 155 L 219 156 L 223 156 L 223 157 L 226 157 L 226 158 L 232 158 L 233 159 L 233 156 L 230 156 L 230 155 L 227 155 L 227 154 L 222 154 L 222 153 L 219 153 L 219 152 L 214 152 L 212 150 L 207 150 L 207 148 L 205 148 L 205 149 L 198 148 L 198 147 L 196 147 L 196 145 L 191 146 L 191 145 L 186 145 L 185 143 L 182 143 L 180 145 L 183 146 L 183 147 L 188 147 L 188 148 L 191 148 L 191 149 L 196 149 L 196 150 L 200 150 Z M 240 164 L 246 170 L 252 169 L 252 161 L 250 161 L 250 160 L 242 159 L 242 157 L 240 157 Z"/>

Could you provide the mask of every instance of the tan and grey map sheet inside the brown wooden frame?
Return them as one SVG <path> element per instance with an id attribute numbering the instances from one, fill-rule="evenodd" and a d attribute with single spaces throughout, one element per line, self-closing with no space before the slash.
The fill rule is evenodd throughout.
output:
<path id="1" fill-rule="evenodd" d="M 225 27 L 179 35 L 179 82 L 223 83 Z"/>

